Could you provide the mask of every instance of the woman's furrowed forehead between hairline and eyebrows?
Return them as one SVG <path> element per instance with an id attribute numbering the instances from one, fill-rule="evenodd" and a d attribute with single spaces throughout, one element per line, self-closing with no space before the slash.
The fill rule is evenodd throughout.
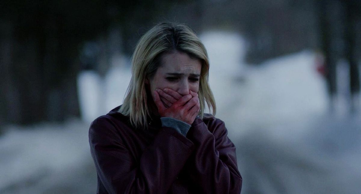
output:
<path id="1" fill-rule="evenodd" d="M 186 53 L 174 52 L 164 54 L 161 57 L 161 67 L 163 71 L 183 72 L 183 73 L 200 73 L 201 62 L 199 59 L 191 58 Z"/>

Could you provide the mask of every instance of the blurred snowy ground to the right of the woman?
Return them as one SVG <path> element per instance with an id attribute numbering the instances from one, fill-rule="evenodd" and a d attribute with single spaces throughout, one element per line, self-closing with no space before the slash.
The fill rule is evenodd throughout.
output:
<path id="1" fill-rule="evenodd" d="M 208 44 L 236 50 L 212 38 Z M 230 57 L 216 50 L 212 56 Z M 234 65 L 231 72 L 222 71 L 236 61 L 211 61 L 218 68 L 210 69 L 210 85 L 217 117 L 225 121 L 237 148 L 242 192 L 358 193 L 361 114 L 327 112 L 326 83 L 316 72 L 314 53 L 305 50 L 258 67 Z M 345 109 L 345 104 L 336 105 Z"/>

